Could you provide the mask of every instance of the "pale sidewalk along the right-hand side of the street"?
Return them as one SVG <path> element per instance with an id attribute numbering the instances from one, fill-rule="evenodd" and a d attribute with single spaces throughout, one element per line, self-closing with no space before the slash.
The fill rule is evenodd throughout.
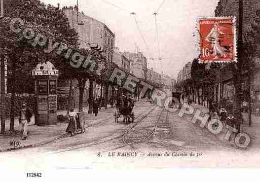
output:
<path id="1" fill-rule="evenodd" d="M 201 106 L 201 105 L 195 105 L 194 103 L 192 106 L 195 109 L 199 109 L 202 113 L 207 113 L 208 108 Z M 245 132 L 250 135 L 252 142 L 254 143 L 260 143 L 260 117 L 252 115 L 252 126 L 248 126 L 248 114 L 243 113 L 244 123 L 241 125 L 241 132 Z"/>

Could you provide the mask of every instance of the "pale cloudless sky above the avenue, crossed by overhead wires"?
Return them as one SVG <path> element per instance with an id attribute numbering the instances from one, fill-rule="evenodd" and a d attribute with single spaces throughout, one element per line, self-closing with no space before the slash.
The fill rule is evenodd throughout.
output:
<path id="1" fill-rule="evenodd" d="M 115 33 L 115 47 L 147 58 L 148 68 L 177 78 L 196 53 L 196 17 L 212 17 L 218 0 L 78 0 L 79 11 L 107 25 Z M 41 0 L 60 7 L 77 0 Z M 134 12 L 133 16 L 130 13 Z M 157 30 L 154 13 L 158 13 Z M 135 19 L 136 18 L 136 21 Z M 158 32 L 158 33 L 157 33 Z M 157 39 L 158 34 L 158 39 Z M 159 46 L 158 46 L 159 42 Z M 146 46 L 147 45 L 147 46 Z M 136 46 L 136 47 L 137 47 Z M 160 59 L 161 58 L 161 61 Z"/>

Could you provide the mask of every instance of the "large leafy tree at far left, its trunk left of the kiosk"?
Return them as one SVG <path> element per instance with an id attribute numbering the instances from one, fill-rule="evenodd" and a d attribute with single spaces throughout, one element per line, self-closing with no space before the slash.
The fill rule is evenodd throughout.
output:
<path id="1" fill-rule="evenodd" d="M 78 34 L 69 27 L 69 23 L 64 13 L 57 8 L 48 5 L 47 7 L 40 1 L 34 0 L 10 0 L 4 2 L 6 11 L 5 15 L 14 18 L 19 17 L 26 21 L 27 24 L 31 24 L 36 32 L 52 37 L 54 41 L 59 41 L 67 45 L 77 45 Z M 27 40 L 19 39 L 14 32 L 7 27 L 9 22 L 2 21 L 5 25 L 2 27 L 5 34 L 2 34 L 2 49 L 8 50 L 8 65 L 11 67 L 11 88 L 12 88 L 12 101 L 11 101 L 11 122 L 10 130 L 14 130 L 14 98 L 16 87 L 16 71 L 22 68 L 24 64 L 31 61 L 36 65 L 39 62 L 44 62 L 49 59 L 54 60 L 57 55 L 54 53 L 46 54 L 43 52 L 43 48 L 32 47 L 28 44 Z M 5 28 L 5 29 L 4 29 Z M 20 38 L 22 36 L 20 35 Z M 46 48 L 46 47 L 45 47 Z M 57 59 L 56 59 L 57 60 Z M 59 60 L 59 59 L 58 59 Z M 62 61 L 62 60 L 61 60 Z M 57 65 L 57 64 L 56 64 Z"/>

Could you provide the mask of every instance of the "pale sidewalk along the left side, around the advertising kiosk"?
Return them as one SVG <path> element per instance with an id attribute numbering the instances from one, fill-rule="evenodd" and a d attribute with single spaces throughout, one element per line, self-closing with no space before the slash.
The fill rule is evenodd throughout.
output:
<path id="1" fill-rule="evenodd" d="M 76 108 L 75 111 L 78 112 L 78 108 Z M 85 113 L 85 124 L 86 127 L 88 127 L 99 122 L 100 120 L 106 119 L 108 116 L 113 116 L 114 108 L 111 108 L 111 106 L 108 105 L 107 110 L 104 110 L 104 108 L 102 107 L 97 117 L 94 117 L 94 114 L 88 114 L 88 107 L 84 107 L 83 112 Z M 58 111 L 58 115 L 66 115 L 66 111 Z M 12 133 L 8 131 L 10 128 L 10 119 L 8 119 L 6 121 L 7 133 L 4 135 L 0 135 L 0 152 L 17 150 L 26 147 L 35 147 L 62 137 L 66 137 L 67 134 L 65 133 L 65 130 L 67 125 L 67 123 L 58 123 L 55 126 L 36 126 L 33 116 L 28 126 L 28 138 L 26 140 L 21 140 L 18 118 L 15 118 L 16 131 Z M 17 146 L 14 146 L 14 143 L 12 143 L 12 141 L 18 141 L 18 144 L 16 143 Z"/>

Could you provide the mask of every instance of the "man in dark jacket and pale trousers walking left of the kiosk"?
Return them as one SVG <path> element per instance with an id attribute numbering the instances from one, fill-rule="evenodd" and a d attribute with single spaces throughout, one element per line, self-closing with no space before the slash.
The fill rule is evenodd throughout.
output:
<path id="1" fill-rule="evenodd" d="M 28 137 L 28 123 L 31 121 L 32 113 L 25 102 L 22 103 L 20 110 L 19 124 L 21 127 L 22 140 Z"/>

